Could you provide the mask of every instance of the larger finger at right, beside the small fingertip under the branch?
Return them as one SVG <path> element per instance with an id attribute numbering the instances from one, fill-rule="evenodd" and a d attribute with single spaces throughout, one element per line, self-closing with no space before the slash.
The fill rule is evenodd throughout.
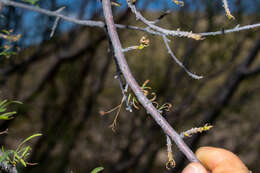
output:
<path id="1" fill-rule="evenodd" d="M 196 151 L 196 156 L 212 173 L 249 173 L 235 154 L 222 148 L 201 147 Z"/>

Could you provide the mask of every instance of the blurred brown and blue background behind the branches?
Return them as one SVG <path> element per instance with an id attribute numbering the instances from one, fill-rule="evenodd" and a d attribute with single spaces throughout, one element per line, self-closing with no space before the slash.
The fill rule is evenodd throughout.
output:
<path id="1" fill-rule="evenodd" d="M 21 2 L 21 1 L 18 1 Z M 114 7 L 116 23 L 144 26 L 124 1 Z M 149 20 L 165 11 L 158 25 L 193 32 L 225 30 L 238 24 L 260 21 L 259 0 L 230 0 L 236 20 L 228 20 L 219 0 L 185 0 L 178 7 L 171 0 L 137 0 Z M 40 0 L 37 5 L 52 11 L 65 6 L 64 15 L 102 20 L 98 0 Z M 1 11 L 1 30 L 21 34 L 12 43 L 17 52 L 0 57 L 1 99 L 19 100 L 16 118 L 1 121 L 0 144 L 15 148 L 34 134 L 29 162 L 19 172 L 180 172 L 187 160 L 173 145 L 176 167 L 165 168 L 166 138 L 141 108 L 119 114 L 115 132 L 110 128 L 116 112 L 100 115 L 120 104 L 122 92 L 114 78 L 116 67 L 108 52 L 103 29 L 82 27 L 61 20 L 50 38 L 55 18 L 14 7 Z M 203 41 L 170 38 L 176 56 L 201 80 L 189 77 L 167 53 L 163 40 L 141 31 L 118 30 L 123 47 L 138 45 L 147 36 L 150 46 L 126 53 L 130 68 L 141 85 L 149 86 L 159 104 L 171 103 L 165 115 L 182 132 L 209 123 L 212 130 L 185 141 L 195 151 L 210 145 L 236 153 L 252 170 L 260 172 L 260 33 L 259 29 L 207 37 Z M 0 40 L 1 46 L 6 41 Z"/>

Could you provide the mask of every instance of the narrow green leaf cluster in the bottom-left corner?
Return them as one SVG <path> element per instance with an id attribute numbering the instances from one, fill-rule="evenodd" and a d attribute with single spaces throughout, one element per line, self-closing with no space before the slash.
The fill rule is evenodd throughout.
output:
<path id="1" fill-rule="evenodd" d="M 35 163 L 28 163 L 26 159 L 30 155 L 31 147 L 26 146 L 25 143 L 32 140 L 35 137 L 41 136 L 42 134 L 36 133 L 34 135 L 29 136 L 25 140 L 23 140 L 15 150 L 7 150 L 5 151 L 4 147 L 2 147 L 2 155 L 0 157 L 0 163 L 6 161 L 8 164 L 12 164 L 16 166 L 18 163 L 22 164 L 24 167 L 27 165 L 34 165 Z"/>

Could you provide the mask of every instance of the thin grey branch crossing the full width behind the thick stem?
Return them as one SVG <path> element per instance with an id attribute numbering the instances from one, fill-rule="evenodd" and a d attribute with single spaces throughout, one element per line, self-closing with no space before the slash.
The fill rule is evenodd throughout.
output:
<path id="1" fill-rule="evenodd" d="M 36 8 L 34 6 L 27 5 L 27 4 L 24 4 L 24 3 L 14 2 L 14 1 L 10 1 L 10 0 L 0 0 L 0 4 L 6 5 L 6 6 L 23 8 L 23 9 L 26 9 L 26 10 L 45 14 L 47 16 L 53 16 L 53 17 L 60 18 L 60 19 L 63 19 L 65 21 L 68 21 L 68 22 L 71 22 L 71 23 L 78 24 L 78 25 L 105 28 L 104 22 L 101 22 L 101 21 L 79 20 L 79 19 L 76 19 L 76 18 L 73 18 L 73 17 L 68 17 L 68 16 L 65 16 L 65 15 L 62 15 L 57 11 L 53 12 L 53 11 L 42 9 L 40 7 Z M 150 22 L 151 24 L 154 23 L 152 21 L 148 21 L 148 22 Z M 146 33 L 149 33 L 149 34 L 153 34 L 153 35 L 159 35 L 159 36 L 165 35 L 162 32 L 152 30 L 151 29 L 152 27 L 151 28 L 149 28 L 149 27 L 143 28 L 143 27 L 138 27 L 138 26 L 121 25 L 121 24 L 115 24 L 115 26 L 118 29 L 130 29 L 130 30 L 142 31 L 142 32 L 146 32 Z M 155 25 L 153 25 L 153 26 L 158 27 L 158 26 L 155 26 Z M 249 30 L 249 29 L 258 28 L 258 27 L 260 27 L 260 23 L 256 23 L 256 24 L 252 24 L 252 25 L 246 25 L 246 26 L 242 26 L 242 27 L 236 26 L 235 28 L 224 30 L 224 32 L 223 32 L 223 30 L 221 30 L 221 31 L 215 31 L 215 32 L 204 32 L 204 33 L 193 33 L 193 34 L 198 34 L 198 35 L 201 35 L 203 37 L 206 37 L 206 36 L 223 35 L 223 34 L 228 34 L 228 33 L 232 33 L 232 32 L 239 32 L 239 31 L 242 31 L 242 30 Z M 190 32 L 177 31 L 177 30 L 176 31 L 171 30 L 171 32 L 175 33 L 174 36 L 178 36 L 177 33 L 179 33 L 179 34 L 182 34 L 182 33 L 191 34 Z M 171 35 L 171 34 L 169 34 L 169 35 Z"/>

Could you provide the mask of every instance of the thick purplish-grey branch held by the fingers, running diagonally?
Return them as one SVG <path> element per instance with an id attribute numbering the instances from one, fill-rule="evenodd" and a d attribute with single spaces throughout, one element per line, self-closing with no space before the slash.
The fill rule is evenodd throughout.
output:
<path id="1" fill-rule="evenodd" d="M 115 57 L 120 67 L 121 72 L 123 73 L 126 82 L 129 84 L 139 102 L 146 109 L 147 113 L 150 114 L 157 124 L 163 129 L 164 133 L 171 137 L 171 139 L 176 143 L 180 151 L 182 151 L 185 156 L 191 162 L 199 162 L 191 149 L 184 143 L 179 134 L 171 127 L 171 125 L 161 116 L 158 110 L 153 106 L 153 104 L 145 97 L 140 86 L 137 84 L 134 79 L 128 64 L 125 60 L 125 56 L 122 53 L 122 46 L 116 31 L 114 24 L 111 4 L 109 0 L 102 0 L 102 6 L 104 11 L 104 17 L 107 24 L 108 34 L 110 36 L 111 42 L 113 44 Z"/>

